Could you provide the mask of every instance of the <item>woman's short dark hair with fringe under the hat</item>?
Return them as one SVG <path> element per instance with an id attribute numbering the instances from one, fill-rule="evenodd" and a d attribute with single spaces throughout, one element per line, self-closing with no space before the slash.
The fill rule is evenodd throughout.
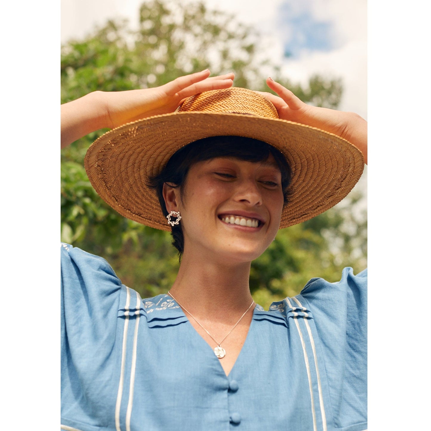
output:
<path id="1" fill-rule="evenodd" d="M 199 139 L 178 150 L 166 163 L 165 168 L 148 181 L 148 186 L 156 190 L 164 215 L 168 215 L 163 199 L 163 184 L 174 184 L 181 187 L 187 177 L 190 167 L 197 162 L 214 159 L 215 157 L 234 157 L 247 162 L 262 162 L 272 156 L 281 172 L 281 187 L 284 196 L 284 206 L 287 205 L 287 187 L 291 180 L 291 169 L 286 159 L 271 145 L 250 137 L 213 136 Z M 172 245 L 178 250 L 180 259 L 184 251 L 184 237 L 179 225 L 172 226 Z"/>

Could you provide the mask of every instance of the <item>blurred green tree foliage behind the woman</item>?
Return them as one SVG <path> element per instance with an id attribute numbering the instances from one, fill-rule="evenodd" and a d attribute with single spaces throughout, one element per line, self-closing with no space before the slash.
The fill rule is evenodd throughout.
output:
<path id="1" fill-rule="evenodd" d="M 315 75 L 307 87 L 280 76 L 265 58 L 265 43 L 253 28 L 203 3 L 156 0 L 143 3 L 137 30 L 127 21 L 109 21 L 84 40 L 62 46 L 61 102 L 85 94 L 155 87 L 178 76 L 210 68 L 213 75 L 235 72 L 234 85 L 269 91 L 271 75 L 315 106 L 336 108 L 340 80 Z M 170 235 L 125 219 L 91 187 L 83 160 L 96 131 L 62 150 L 61 237 L 105 257 L 124 284 L 142 297 L 166 292 L 178 270 Z M 356 210 L 360 195 L 308 222 L 278 233 L 269 249 L 252 263 L 250 288 L 256 302 L 297 294 L 311 276 L 340 279 L 344 266 L 355 273 L 366 265 L 366 217 Z"/>

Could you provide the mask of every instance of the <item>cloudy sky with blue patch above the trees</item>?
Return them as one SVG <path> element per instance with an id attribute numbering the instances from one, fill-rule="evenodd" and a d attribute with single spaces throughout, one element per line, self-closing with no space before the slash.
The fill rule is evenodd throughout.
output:
<path id="1" fill-rule="evenodd" d="M 367 119 L 366 0 L 204 0 L 238 21 L 253 25 L 264 37 L 269 55 L 282 72 L 305 84 L 318 73 L 341 78 L 339 109 Z M 142 0 L 61 0 L 61 40 L 84 37 L 107 19 L 137 23 Z M 264 4 L 265 6 L 262 6 Z"/>

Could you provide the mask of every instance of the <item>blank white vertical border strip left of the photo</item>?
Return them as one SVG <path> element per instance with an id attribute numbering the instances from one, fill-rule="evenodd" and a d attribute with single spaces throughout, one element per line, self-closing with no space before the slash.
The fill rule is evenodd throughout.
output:
<path id="1" fill-rule="evenodd" d="M 2 429 L 59 428 L 60 2 L 3 4 Z M 24 407 L 23 407 L 24 406 Z M 36 424 L 36 425 L 34 425 Z"/>

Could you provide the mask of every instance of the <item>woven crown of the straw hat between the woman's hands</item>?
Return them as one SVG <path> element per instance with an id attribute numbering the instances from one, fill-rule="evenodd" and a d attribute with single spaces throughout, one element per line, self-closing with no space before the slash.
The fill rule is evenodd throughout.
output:
<path id="1" fill-rule="evenodd" d="M 184 100 L 177 112 L 218 112 L 278 118 L 277 109 L 268 98 L 256 91 L 241 87 L 195 94 Z"/>

